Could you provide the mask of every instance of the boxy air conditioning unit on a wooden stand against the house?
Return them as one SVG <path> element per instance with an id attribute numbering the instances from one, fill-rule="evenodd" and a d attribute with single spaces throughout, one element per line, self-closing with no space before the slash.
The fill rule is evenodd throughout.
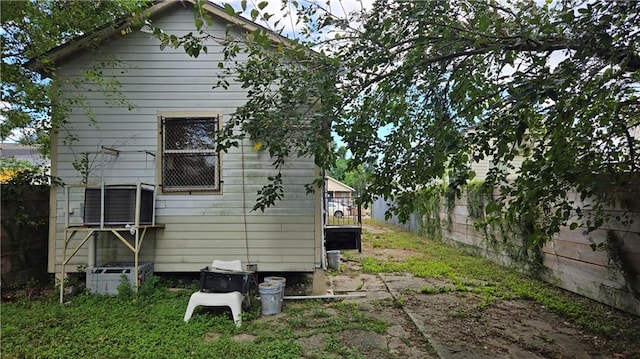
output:
<path id="1" fill-rule="evenodd" d="M 135 185 L 109 185 L 104 187 L 104 225 L 123 226 L 136 221 Z M 99 226 L 101 211 L 100 187 L 87 187 L 84 193 L 84 225 Z M 140 222 L 153 224 L 153 190 L 140 187 Z"/>

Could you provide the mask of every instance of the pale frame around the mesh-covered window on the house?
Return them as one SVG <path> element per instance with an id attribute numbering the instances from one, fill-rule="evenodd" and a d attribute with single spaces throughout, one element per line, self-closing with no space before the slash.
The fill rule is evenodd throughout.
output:
<path id="1" fill-rule="evenodd" d="M 181 121 L 181 120 L 206 120 L 210 119 L 214 121 L 214 136 L 220 131 L 222 125 L 222 115 L 218 112 L 159 112 L 158 113 L 158 153 L 160 154 L 157 166 L 158 183 L 160 183 L 160 189 L 162 193 L 166 194 L 191 194 L 191 193 L 220 193 L 222 191 L 222 160 L 220 152 L 216 152 L 215 149 L 167 149 L 167 132 L 166 123 L 168 121 Z M 167 186 L 166 185 L 166 159 L 167 155 L 212 155 L 214 159 L 214 183 L 211 186 Z"/>

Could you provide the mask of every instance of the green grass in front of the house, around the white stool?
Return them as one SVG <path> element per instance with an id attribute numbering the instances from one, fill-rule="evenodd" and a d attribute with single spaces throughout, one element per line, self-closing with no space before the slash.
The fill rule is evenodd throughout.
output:
<path id="1" fill-rule="evenodd" d="M 336 337 L 345 330 L 384 333 L 387 323 L 355 303 L 288 302 L 285 315 L 260 320 L 260 305 L 243 312 L 236 328 L 226 310 L 196 311 L 182 318 L 188 290 L 169 291 L 162 283 L 143 284 L 137 294 L 116 297 L 81 294 L 64 305 L 54 295 L 38 301 L 26 298 L 2 304 L 2 358 L 299 358 L 299 339 L 312 335 Z M 215 333 L 215 340 L 208 340 Z M 236 342 L 238 334 L 254 336 Z M 339 343 L 317 349 L 319 358 Z M 361 357 L 356 349 L 340 347 Z"/>

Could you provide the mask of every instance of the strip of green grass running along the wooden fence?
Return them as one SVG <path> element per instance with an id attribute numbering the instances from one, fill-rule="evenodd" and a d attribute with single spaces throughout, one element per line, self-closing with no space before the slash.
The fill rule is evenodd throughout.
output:
<path id="1" fill-rule="evenodd" d="M 369 220 L 374 226 L 392 229 L 390 232 L 368 233 L 364 231 L 363 242 L 385 248 L 411 249 L 416 255 L 405 261 L 387 261 L 363 257 L 361 263 L 366 273 L 412 273 L 418 277 L 438 278 L 453 285 L 443 288 L 422 288 L 423 294 L 447 291 L 471 292 L 479 295 L 484 305 L 505 299 L 534 300 L 544 307 L 564 316 L 590 331 L 622 340 L 640 338 L 637 317 L 612 316 L 611 308 L 594 305 L 593 302 L 570 294 L 552 285 L 523 275 L 515 270 L 499 266 L 484 258 L 464 254 L 443 242 L 403 231 L 397 227 Z M 454 289 L 455 288 L 455 289 Z"/>

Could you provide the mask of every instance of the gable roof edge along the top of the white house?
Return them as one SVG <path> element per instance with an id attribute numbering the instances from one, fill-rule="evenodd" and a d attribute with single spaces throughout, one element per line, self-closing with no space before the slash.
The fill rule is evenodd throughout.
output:
<path id="1" fill-rule="evenodd" d="M 156 18 L 163 13 L 176 8 L 179 5 L 185 6 L 186 4 L 195 5 L 197 0 L 161 0 L 160 2 L 147 8 L 146 15 L 149 19 Z M 256 24 L 253 21 L 245 19 L 241 16 L 229 15 L 225 9 L 219 5 L 211 2 L 207 2 L 202 5 L 202 9 L 209 14 L 221 18 L 233 26 L 245 30 L 247 32 L 253 32 L 256 30 L 264 30 L 268 36 L 274 42 L 286 42 L 288 39 L 284 36 L 277 34 L 276 32 Z M 113 25 L 107 25 L 96 28 L 94 31 L 77 37 L 76 39 L 57 46 L 46 53 L 30 59 L 26 63 L 26 67 L 39 72 L 41 74 L 49 74 L 52 67 L 64 61 L 66 58 L 80 52 L 93 48 L 96 44 L 102 43 L 116 35 L 119 35 L 121 31 L 133 26 L 134 19 L 127 18 L 116 21 Z"/>

